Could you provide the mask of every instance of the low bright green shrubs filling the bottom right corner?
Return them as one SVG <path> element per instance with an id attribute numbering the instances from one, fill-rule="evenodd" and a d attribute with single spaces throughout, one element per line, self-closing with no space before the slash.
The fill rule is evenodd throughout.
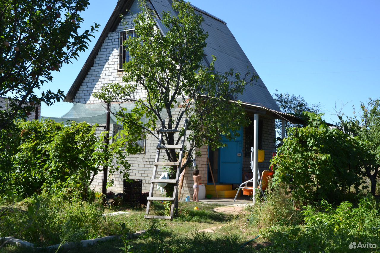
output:
<path id="1" fill-rule="evenodd" d="M 283 252 L 371 252 L 368 247 L 350 249 L 352 242 L 380 245 L 380 215 L 372 197 L 362 198 L 356 208 L 342 202 L 336 208 L 326 201 L 302 211 L 304 225 L 274 226 L 263 234 Z"/>

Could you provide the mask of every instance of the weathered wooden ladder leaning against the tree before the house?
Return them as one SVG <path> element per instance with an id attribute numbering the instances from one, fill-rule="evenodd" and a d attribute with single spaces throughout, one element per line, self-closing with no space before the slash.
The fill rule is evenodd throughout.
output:
<path id="1" fill-rule="evenodd" d="M 165 122 L 164 122 L 165 123 Z M 186 139 L 186 131 L 187 131 L 187 119 L 185 119 L 184 123 L 184 136 L 182 137 L 182 142 L 180 145 L 161 145 L 162 144 L 162 138 L 163 134 L 165 133 L 178 133 L 180 130 L 179 129 L 167 129 L 163 128 L 158 130 L 158 133 L 160 135 L 158 136 L 158 144 L 157 144 L 157 151 L 156 151 L 156 158 L 153 164 L 153 175 L 152 179 L 150 180 L 150 190 L 149 190 L 149 196 L 148 196 L 148 204 L 146 206 L 146 215 L 144 215 L 144 218 L 147 219 L 166 219 L 166 220 L 171 220 L 173 219 L 174 215 L 174 206 L 176 206 L 176 202 L 178 201 L 177 199 L 177 188 L 178 188 L 178 179 L 180 175 L 180 168 L 182 166 L 182 157 L 184 155 L 184 145 L 185 145 L 185 139 Z M 179 157 L 177 162 L 169 162 L 169 161 L 164 161 L 160 162 L 158 161 L 160 159 L 160 151 L 161 149 L 180 149 L 179 151 Z M 157 174 L 157 167 L 158 166 L 177 166 L 177 172 L 176 172 L 176 179 L 156 179 L 156 174 Z M 173 197 L 154 197 L 153 196 L 153 191 L 154 191 L 154 184 L 155 183 L 174 183 L 174 191 L 173 191 Z M 149 209 L 150 205 L 152 204 L 152 201 L 170 201 L 171 202 L 171 209 L 170 209 L 170 216 L 165 216 L 165 215 L 149 215 Z"/>

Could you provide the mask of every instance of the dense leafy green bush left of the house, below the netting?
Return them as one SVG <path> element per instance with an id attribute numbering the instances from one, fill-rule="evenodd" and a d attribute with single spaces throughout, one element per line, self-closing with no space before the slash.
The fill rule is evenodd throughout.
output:
<path id="1" fill-rule="evenodd" d="M 95 126 L 53 120 L 19 121 L 0 131 L 0 196 L 12 191 L 23 197 L 57 190 L 88 198 L 89 185 L 107 160 Z M 128 168 L 127 166 L 125 166 Z"/>

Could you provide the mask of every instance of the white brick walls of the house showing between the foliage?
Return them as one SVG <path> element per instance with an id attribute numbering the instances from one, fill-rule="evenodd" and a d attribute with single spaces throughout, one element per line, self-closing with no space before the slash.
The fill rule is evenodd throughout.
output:
<path id="1" fill-rule="evenodd" d="M 113 32 L 110 32 L 105 39 L 103 45 L 98 52 L 98 55 L 95 58 L 94 65 L 90 68 L 87 76 L 85 77 L 81 87 L 79 88 L 76 96 L 74 97 L 74 102 L 79 103 L 100 103 L 100 100 L 93 98 L 92 93 L 101 89 L 103 85 L 109 84 L 111 82 L 119 82 L 122 84 L 122 77 L 124 73 L 118 71 L 119 64 L 119 33 L 123 30 L 128 30 L 133 28 L 133 18 L 135 16 L 125 16 L 126 25 L 122 23 L 119 24 L 117 29 Z M 145 93 L 141 90 L 138 90 L 135 94 L 140 96 L 142 99 L 145 98 Z M 271 158 L 272 151 L 274 150 L 275 138 L 274 133 L 274 119 L 263 119 L 263 148 L 266 151 L 265 153 L 265 162 L 260 164 L 260 168 L 267 168 L 269 166 L 269 160 Z M 181 125 L 182 126 L 182 125 Z M 245 133 L 244 133 L 245 135 Z M 153 136 L 148 136 L 146 139 L 145 152 L 136 155 L 130 155 L 128 161 L 131 164 L 130 169 L 130 179 L 142 179 L 142 191 L 149 191 L 150 188 L 150 179 L 152 177 L 153 163 L 155 160 L 156 154 L 156 145 L 157 139 Z M 244 149 L 244 147 L 243 147 Z M 207 147 L 201 149 L 202 157 L 196 158 L 196 163 L 202 176 L 203 183 L 207 183 Z M 244 150 L 243 150 L 244 154 Z M 161 158 L 166 157 L 165 153 L 161 153 Z M 162 160 L 161 160 L 162 161 Z M 248 166 L 249 170 L 249 161 L 250 158 L 243 158 L 243 168 Z M 157 172 L 157 177 L 161 175 L 162 169 L 159 168 Z M 193 170 L 187 168 L 184 184 L 182 188 L 181 197 L 184 198 L 186 195 L 193 194 L 193 179 L 192 179 Z M 216 175 L 215 175 L 216 176 Z M 123 179 L 122 175 L 119 172 L 113 177 L 114 186 L 109 188 L 115 193 L 123 191 Z M 216 178 L 215 178 L 216 179 Z M 100 173 L 94 180 L 92 187 L 101 191 L 102 185 L 102 173 Z M 155 194 L 159 194 L 155 188 Z"/>

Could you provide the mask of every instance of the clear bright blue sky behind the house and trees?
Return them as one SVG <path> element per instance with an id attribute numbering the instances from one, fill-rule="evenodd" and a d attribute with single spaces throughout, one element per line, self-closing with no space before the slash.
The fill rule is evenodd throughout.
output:
<path id="1" fill-rule="evenodd" d="M 90 0 L 83 28 L 109 19 L 116 0 Z M 224 20 L 263 79 L 269 92 L 301 95 L 321 103 L 325 120 L 337 109 L 352 115 L 367 98 L 380 98 L 380 1 L 193 0 L 198 8 Z M 96 38 L 100 35 L 97 33 Z M 55 73 L 47 89 L 65 92 L 89 50 Z M 60 117 L 72 104 L 42 106 L 41 115 Z"/>

